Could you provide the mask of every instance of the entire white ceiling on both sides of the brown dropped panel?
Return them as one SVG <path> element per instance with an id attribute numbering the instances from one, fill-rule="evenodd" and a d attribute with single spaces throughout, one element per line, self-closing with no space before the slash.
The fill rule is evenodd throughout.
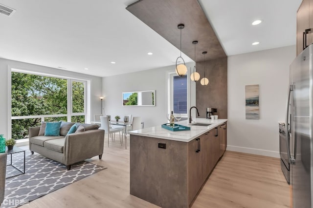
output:
<path id="1" fill-rule="evenodd" d="M 134 1 L 0 0 L 17 10 L 0 15 L 0 57 L 94 76 L 174 65 L 179 50 L 125 9 Z M 228 56 L 294 45 L 301 1 L 199 0 Z"/>

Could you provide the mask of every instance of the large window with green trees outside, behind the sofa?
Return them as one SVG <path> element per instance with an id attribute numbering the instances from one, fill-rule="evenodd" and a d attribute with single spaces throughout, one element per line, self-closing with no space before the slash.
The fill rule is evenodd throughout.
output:
<path id="1" fill-rule="evenodd" d="M 11 82 L 12 138 L 27 138 L 42 121 L 85 122 L 86 81 L 12 70 Z"/>

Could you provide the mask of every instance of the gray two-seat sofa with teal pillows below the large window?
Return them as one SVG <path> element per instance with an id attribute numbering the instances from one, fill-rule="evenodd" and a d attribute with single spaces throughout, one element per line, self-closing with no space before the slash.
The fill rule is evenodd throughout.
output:
<path id="1" fill-rule="evenodd" d="M 67 135 L 74 123 L 62 122 L 60 136 L 38 135 L 40 126 L 28 129 L 29 150 L 38 152 L 55 161 L 63 163 L 70 170 L 71 165 L 87 158 L 99 155 L 102 158 L 104 146 L 104 130 L 95 124 L 83 125 L 85 132 L 75 132 Z"/>

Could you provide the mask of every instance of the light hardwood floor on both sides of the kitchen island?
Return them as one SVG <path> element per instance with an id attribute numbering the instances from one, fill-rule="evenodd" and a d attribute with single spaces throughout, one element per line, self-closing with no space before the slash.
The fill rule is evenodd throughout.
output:
<path id="1" fill-rule="evenodd" d="M 102 160 L 93 157 L 89 161 L 107 170 L 21 208 L 157 208 L 129 194 L 129 149 L 119 144 L 118 135 L 110 148 L 106 141 Z M 192 208 L 286 208 L 289 196 L 279 159 L 226 151 Z"/>

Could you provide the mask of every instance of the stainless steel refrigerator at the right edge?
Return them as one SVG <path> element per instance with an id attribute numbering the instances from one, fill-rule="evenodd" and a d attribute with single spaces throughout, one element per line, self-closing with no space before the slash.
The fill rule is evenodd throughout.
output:
<path id="1" fill-rule="evenodd" d="M 293 208 L 313 208 L 313 45 L 290 66 L 286 145 L 290 161 Z"/>

